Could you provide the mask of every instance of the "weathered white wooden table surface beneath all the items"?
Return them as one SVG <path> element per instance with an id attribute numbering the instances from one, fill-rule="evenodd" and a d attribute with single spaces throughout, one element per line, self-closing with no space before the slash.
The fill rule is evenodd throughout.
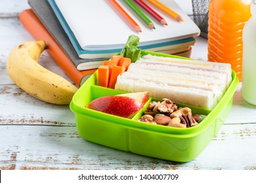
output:
<path id="1" fill-rule="evenodd" d="M 256 169 L 256 107 L 242 99 L 241 84 L 224 125 L 188 163 L 148 158 L 81 139 L 68 105 L 39 101 L 7 75 L 11 48 L 34 40 L 18 20 L 26 8 L 30 7 L 25 0 L 0 0 L 0 169 Z M 196 39 L 191 57 L 207 60 L 206 39 Z M 47 52 L 39 63 L 68 78 Z"/>

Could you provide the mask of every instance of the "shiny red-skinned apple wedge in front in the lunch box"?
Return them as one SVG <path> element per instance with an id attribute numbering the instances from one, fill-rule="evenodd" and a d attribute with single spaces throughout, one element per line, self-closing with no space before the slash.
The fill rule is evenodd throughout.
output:
<path id="1" fill-rule="evenodd" d="M 131 97 L 110 95 L 94 99 L 87 105 L 87 108 L 123 118 L 132 118 L 136 112 L 143 108 L 143 105 Z"/>

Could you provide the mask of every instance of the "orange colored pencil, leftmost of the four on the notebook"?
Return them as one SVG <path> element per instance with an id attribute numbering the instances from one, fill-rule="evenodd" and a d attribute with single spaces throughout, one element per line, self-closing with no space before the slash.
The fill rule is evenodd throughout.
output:
<path id="1" fill-rule="evenodd" d="M 125 12 L 125 10 L 115 0 L 108 0 L 108 2 L 110 2 L 110 4 L 117 10 L 117 12 L 123 16 L 127 23 L 131 25 L 133 29 L 135 29 L 135 31 L 142 32 L 137 22 L 135 22 L 135 20 L 133 20 L 133 18 L 131 18 L 131 16 L 129 16 L 129 14 L 127 14 L 127 12 Z"/>

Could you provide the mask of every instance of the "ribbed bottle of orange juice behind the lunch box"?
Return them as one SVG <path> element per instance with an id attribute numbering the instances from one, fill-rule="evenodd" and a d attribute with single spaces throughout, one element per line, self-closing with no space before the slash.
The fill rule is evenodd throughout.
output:
<path id="1" fill-rule="evenodd" d="M 242 80 L 244 25 L 251 17 L 251 0 L 210 0 L 208 60 L 230 63 Z"/>

